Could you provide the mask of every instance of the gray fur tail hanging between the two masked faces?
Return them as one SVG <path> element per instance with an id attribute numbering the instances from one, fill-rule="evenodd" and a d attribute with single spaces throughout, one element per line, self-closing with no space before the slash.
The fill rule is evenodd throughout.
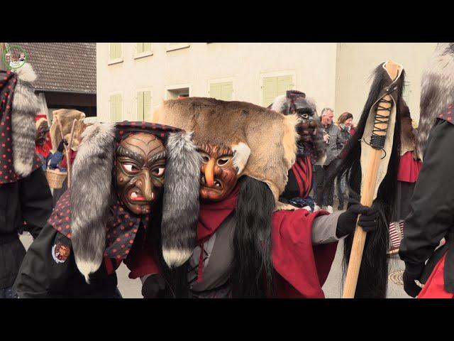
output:
<path id="1" fill-rule="evenodd" d="M 170 268 L 184 264 L 196 245 L 201 156 L 191 138 L 192 133 L 180 132 L 167 139 L 161 236 Z"/>

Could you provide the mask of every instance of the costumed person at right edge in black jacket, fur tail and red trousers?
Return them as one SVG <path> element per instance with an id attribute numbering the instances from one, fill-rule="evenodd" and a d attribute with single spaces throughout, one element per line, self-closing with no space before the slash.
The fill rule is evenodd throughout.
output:
<path id="1" fill-rule="evenodd" d="M 416 150 L 423 166 L 399 249 L 405 261 L 404 290 L 418 298 L 453 298 L 454 43 L 439 43 L 429 60 L 420 109 Z M 443 238 L 446 242 L 439 247 Z"/>

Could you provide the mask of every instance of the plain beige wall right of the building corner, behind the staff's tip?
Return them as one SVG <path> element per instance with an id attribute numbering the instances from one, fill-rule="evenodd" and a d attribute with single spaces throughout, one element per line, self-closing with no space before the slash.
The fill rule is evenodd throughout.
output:
<path id="1" fill-rule="evenodd" d="M 411 117 L 419 121 L 421 75 L 436 43 L 338 43 L 335 118 L 351 112 L 358 122 L 367 95 L 372 71 L 389 58 L 404 66 L 404 99 Z"/>

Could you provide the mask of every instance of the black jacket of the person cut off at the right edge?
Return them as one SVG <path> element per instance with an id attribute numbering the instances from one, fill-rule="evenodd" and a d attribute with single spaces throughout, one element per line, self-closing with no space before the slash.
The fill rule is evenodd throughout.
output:
<path id="1" fill-rule="evenodd" d="M 453 148 L 454 125 L 438 119 L 426 144 L 399 251 L 406 271 L 420 276 L 425 261 L 447 237 L 450 251 L 445 262 L 445 288 L 450 292 L 454 292 L 454 238 L 448 237 L 454 228 Z"/>

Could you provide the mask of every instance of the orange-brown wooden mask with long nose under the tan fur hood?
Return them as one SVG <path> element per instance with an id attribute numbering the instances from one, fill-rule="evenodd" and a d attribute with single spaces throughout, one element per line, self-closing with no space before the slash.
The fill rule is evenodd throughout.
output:
<path id="1" fill-rule="evenodd" d="M 213 144 L 202 144 L 197 150 L 202 157 L 201 200 L 218 202 L 225 199 L 238 181 L 237 170 L 233 166 L 233 151 Z"/>

